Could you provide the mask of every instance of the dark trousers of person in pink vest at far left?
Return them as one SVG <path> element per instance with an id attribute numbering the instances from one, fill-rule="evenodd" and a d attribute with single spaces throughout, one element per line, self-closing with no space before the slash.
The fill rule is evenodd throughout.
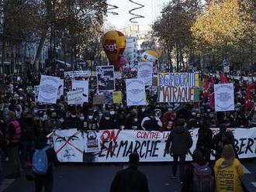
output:
<path id="1" fill-rule="evenodd" d="M 9 146 L 8 154 L 12 164 L 12 174 L 19 175 L 19 146 Z"/>

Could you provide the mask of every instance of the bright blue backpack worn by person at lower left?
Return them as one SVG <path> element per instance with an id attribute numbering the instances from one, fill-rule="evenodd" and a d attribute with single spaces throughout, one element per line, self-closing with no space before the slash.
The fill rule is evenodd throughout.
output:
<path id="1" fill-rule="evenodd" d="M 32 170 L 36 174 L 45 175 L 47 173 L 49 167 L 47 149 L 50 149 L 50 146 L 45 146 L 43 149 L 36 149 L 33 154 Z"/>

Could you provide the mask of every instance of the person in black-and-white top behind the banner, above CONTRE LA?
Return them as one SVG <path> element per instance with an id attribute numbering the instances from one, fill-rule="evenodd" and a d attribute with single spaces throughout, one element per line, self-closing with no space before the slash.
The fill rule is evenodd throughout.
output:
<path id="1" fill-rule="evenodd" d="M 141 128 L 147 131 L 159 131 L 162 127 L 161 119 L 155 114 L 154 110 L 141 122 Z"/>

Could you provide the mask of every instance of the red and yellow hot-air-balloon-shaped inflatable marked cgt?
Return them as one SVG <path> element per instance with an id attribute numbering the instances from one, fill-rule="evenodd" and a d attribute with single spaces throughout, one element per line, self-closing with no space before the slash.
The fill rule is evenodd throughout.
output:
<path id="1" fill-rule="evenodd" d="M 115 65 L 126 49 L 126 37 L 119 31 L 109 31 L 102 39 L 103 49 L 109 58 L 109 62 Z"/>

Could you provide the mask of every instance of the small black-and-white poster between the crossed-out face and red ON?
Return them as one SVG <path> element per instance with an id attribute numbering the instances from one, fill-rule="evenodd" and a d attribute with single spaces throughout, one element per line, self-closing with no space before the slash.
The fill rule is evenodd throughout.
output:
<path id="1" fill-rule="evenodd" d="M 85 137 L 85 153 L 95 153 L 100 151 L 99 133 L 88 131 Z"/>

